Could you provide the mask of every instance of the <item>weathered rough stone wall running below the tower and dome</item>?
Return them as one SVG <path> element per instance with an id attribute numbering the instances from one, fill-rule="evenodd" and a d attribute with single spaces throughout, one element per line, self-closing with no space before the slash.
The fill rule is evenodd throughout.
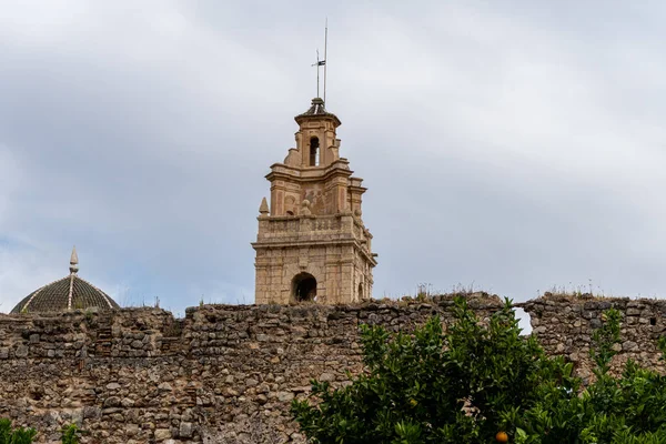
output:
<path id="1" fill-rule="evenodd" d="M 470 299 L 482 319 L 496 296 Z M 552 353 L 585 371 L 602 311 L 626 314 L 619 361 L 659 366 L 656 301 L 539 299 L 525 304 Z M 287 413 L 313 377 L 347 383 L 362 369 L 357 327 L 410 330 L 432 314 L 451 321 L 452 301 L 362 305 L 202 305 L 183 320 L 159 309 L 52 316 L 0 315 L 0 417 L 57 442 L 65 423 L 85 443 L 302 443 Z M 647 320 L 647 321 L 646 321 Z"/>

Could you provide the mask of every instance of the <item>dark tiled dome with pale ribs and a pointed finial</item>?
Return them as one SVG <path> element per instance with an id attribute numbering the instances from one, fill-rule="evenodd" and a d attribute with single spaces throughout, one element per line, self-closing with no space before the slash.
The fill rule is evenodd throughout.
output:
<path id="1" fill-rule="evenodd" d="M 42 286 L 26 296 L 12 313 L 64 312 L 68 310 L 117 310 L 120 305 L 107 293 L 78 276 L 77 249 L 70 260 L 70 275 Z"/>

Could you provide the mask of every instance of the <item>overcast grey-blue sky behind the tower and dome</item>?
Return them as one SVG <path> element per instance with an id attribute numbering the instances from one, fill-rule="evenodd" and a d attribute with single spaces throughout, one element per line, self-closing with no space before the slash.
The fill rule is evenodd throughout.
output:
<path id="1" fill-rule="evenodd" d="M 68 273 L 252 303 L 330 24 L 374 296 L 666 289 L 663 1 L 0 0 L 0 311 Z"/>

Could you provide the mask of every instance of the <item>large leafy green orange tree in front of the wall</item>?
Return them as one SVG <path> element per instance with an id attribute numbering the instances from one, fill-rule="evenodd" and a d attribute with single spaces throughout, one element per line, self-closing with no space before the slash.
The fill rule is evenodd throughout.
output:
<path id="1" fill-rule="evenodd" d="M 608 373 L 618 311 L 594 332 L 587 387 L 571 363 L 521 336 L 511 301 L 487 326 L 464 299 L 454 314 L 446 333 L 438 317 L 413 334 L 363 325 L 367 371 L 337 390 L 313 381 L 316 402 L 292 403 L 301 431 L 320 444 L 488 443 L 500 431 L 524 444 L 666 444 L 666 379 L 633 361 L 619 377 Z"/>

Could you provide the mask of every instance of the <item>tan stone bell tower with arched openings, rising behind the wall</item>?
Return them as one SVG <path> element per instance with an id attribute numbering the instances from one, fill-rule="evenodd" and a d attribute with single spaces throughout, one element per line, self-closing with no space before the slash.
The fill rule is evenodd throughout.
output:
<path id="1" fill-rule="evenodd" d="M 372 235 L 361 219 L 362 179 L 339 155 L 340 119 L 322 99 L 295 117 L 296 148 L 271 165 L 271 205 L 259 208 L 255 303 L 359 302 L 372 294 Z"/>

